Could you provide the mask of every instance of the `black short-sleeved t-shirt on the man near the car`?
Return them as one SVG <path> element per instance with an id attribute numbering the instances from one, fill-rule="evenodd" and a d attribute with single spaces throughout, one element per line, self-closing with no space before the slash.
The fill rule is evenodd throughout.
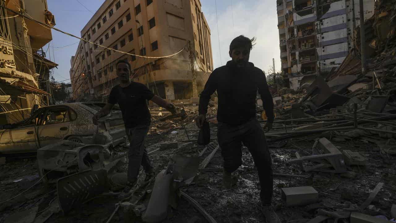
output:
<path id="1" fill-rule="evenodd" d="M 154 94 L 143 84 L 131 82 L 128 87 L 116 85 L 111 89 L 109 103 L 121 108 L 125 127 L 150 125 L 151 115 L 146 100 L 151 100 Z"/>

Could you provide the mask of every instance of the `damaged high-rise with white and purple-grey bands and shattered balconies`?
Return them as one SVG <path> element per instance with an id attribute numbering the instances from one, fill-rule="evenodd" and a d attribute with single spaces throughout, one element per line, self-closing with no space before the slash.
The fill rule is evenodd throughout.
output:
<path id="1" fill-rule="evenodd" d="M 287 87 L 294 90 L 336 69 L 354 48 L 360 26 L 359 0 L 277 0 L 280 59 Z M 363 0 L 364 19 L 374 1 Z"/>

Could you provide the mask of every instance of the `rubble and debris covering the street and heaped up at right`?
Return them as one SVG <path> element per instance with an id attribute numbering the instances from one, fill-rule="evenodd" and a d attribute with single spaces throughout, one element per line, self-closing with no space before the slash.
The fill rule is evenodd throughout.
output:
<path id="1" fill-rule="evenodd" d="M 396 2 L 375 5 L 366 22 L 375 49 L 366 75 L 359 52 L 351 51 L 327 77 L 273 94 L 276 118 L 266 137 L 282 222 L 395 222 Z M 114 146 L 57 139 L 38 150 L 37 163 L 0 158 L 0 222 L 263 222 L 253 158 L 244 147 L 237 185 L 222 188 L 217 98 L 208 108 L 206 146 L 197 144 L 198 102 L 173 102 L 175 115 L 150 106 L 146 145 L 156 177 L 142 183 L 142 173 L 127 192 L 121 182 L 128 149 L 120 134 Z M 262 104 L 257 118 L 264 125 Z"/>

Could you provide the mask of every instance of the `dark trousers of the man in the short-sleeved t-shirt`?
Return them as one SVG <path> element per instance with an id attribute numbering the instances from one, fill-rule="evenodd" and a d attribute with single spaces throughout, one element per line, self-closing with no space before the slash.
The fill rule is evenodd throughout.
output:
<path id="1" fill-rule="evenodd" d="M 127 137 L 129 142 L 128 151 L 128 181 L 135 182 L 139 175 L 140 165 L 146 173 L 152 173 L 153 168 L 151 166 L 150 158 L 148 157 L 147 150 L 145 148 L 145 140 L 150 129 L 147 125 L 139 125 L 137 127 L 127 129 Z"/>

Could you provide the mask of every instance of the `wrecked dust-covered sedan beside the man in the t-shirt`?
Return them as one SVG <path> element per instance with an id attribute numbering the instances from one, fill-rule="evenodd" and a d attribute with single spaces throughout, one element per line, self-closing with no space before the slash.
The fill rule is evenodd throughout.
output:
<path id="1" fill-rule="evenodd" d="M 109 115 L 99 119 L 99 125 L 94 125 L 92 116 L 103 106 L 102 102 L 78 102 L 38 108 L 28 119 L 3 126 L 0 153 L 36 152 L 64 139 L 116 146 L 126 135 L 121 110 L 114 106 Z"/>

